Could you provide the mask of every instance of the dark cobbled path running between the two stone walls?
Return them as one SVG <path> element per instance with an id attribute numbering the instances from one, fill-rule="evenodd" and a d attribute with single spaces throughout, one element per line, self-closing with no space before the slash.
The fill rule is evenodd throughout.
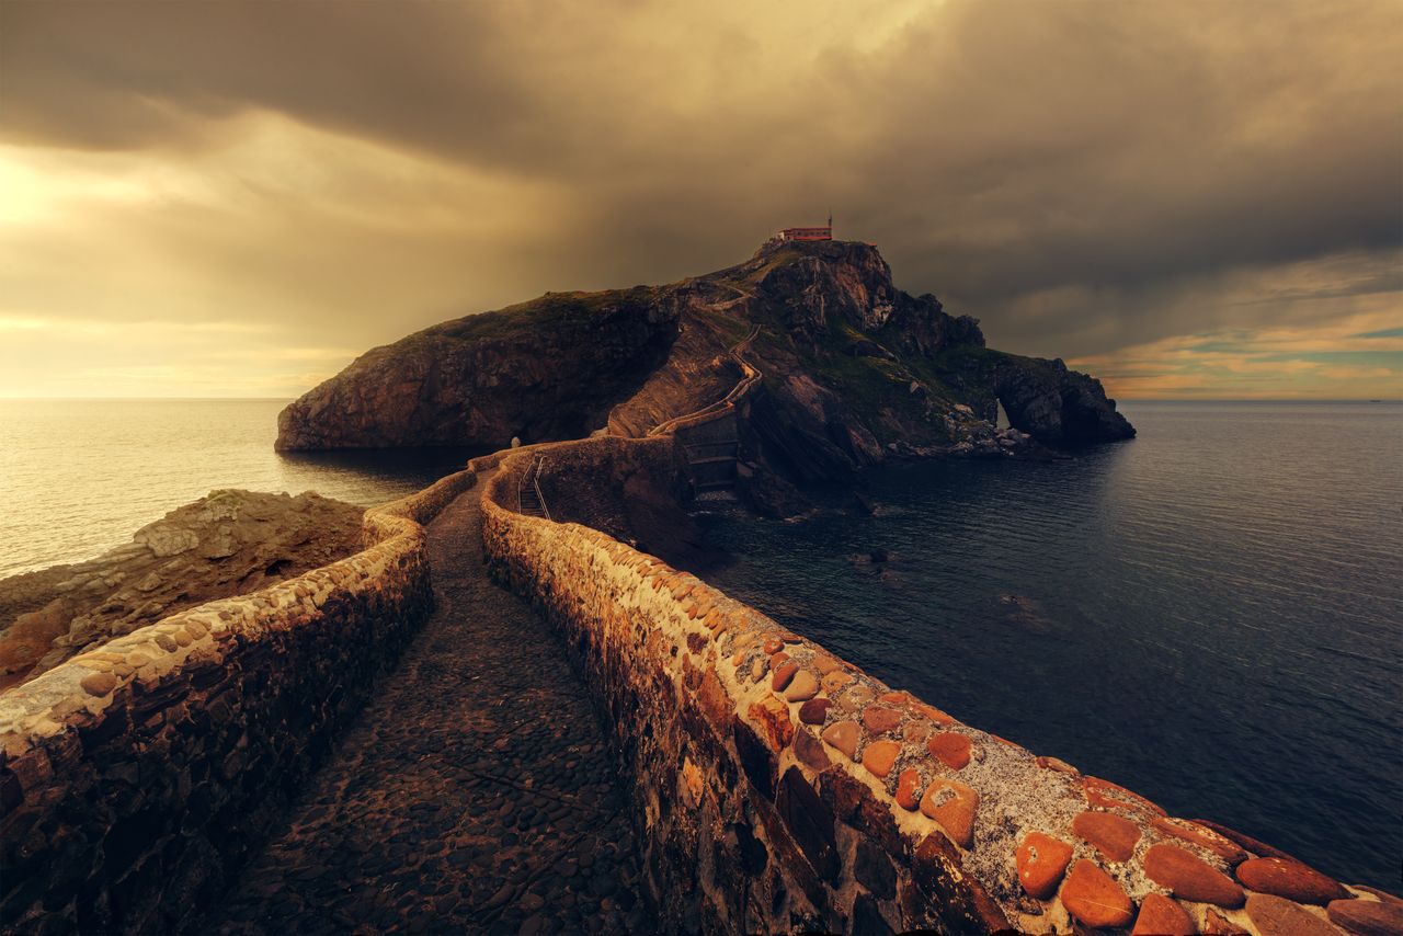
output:
<path id="1" fill-rule="evenodd" d="M 429 525 L 432 617 L 201 932 L 654 929 L 588 693 L 487 577 L 485 481 Z"/>

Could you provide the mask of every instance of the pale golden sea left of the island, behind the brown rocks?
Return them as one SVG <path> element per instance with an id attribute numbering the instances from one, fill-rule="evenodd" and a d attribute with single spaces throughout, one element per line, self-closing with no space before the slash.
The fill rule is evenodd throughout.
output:
<path id="1" fill-rule="evenodd" d="M 91 559 L 222 487 L 370 507 L 474 453 L 272 450 L 286 400 L 0 400 L 0 577 Z"/>

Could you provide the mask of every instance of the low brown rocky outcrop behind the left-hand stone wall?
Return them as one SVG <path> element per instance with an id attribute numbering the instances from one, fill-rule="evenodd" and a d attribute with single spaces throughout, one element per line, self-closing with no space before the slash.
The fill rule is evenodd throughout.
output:
<path id="1" fill-rule="evenodd" d="M 311 493 L 210 491 L 98 559 L 3 578 L 0 688 L 187 608 L 349 556 L 362 514 Z"/>

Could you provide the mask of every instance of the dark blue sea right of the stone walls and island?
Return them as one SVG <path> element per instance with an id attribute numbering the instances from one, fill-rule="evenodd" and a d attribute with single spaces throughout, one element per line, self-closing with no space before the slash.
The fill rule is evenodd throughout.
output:
<path id="1" fill-rule="evenodd" d="M 1403 406 L 1122 408 L 1139 438 L 1075 460 L 874 474 L 874 516 L 704 516 L 735 556 L 709 578 L 971 726 L 1397 892 Z"/>

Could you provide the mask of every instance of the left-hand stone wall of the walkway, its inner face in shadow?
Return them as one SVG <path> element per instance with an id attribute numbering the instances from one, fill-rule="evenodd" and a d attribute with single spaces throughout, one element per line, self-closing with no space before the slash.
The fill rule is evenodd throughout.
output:
<path id="1" fill-rule="evenodd" d="M 173 932 L 257 849 L 431 610 L 449 476 L 363 551 L 84 653 L 0 696 L 0 928 Z"/>

